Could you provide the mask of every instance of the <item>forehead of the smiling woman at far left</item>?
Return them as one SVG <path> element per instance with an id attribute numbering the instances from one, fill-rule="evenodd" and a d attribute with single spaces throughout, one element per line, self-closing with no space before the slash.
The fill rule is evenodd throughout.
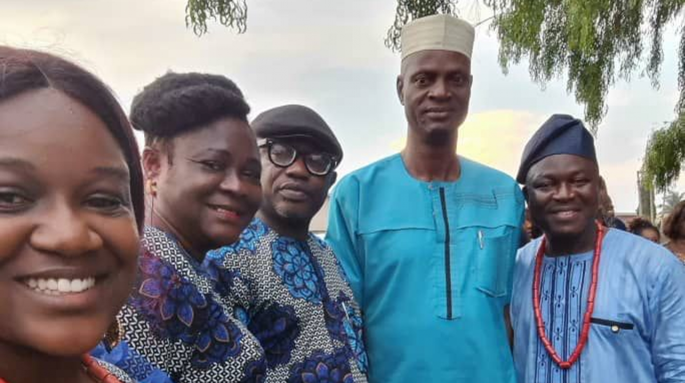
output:
<path id="1" fill-rule="evenodd" d="M 50 88 L 0 102 L 0 155 L 40 167 L 125 166 L 123 151 L 105 123 L 81 103 Z"/>

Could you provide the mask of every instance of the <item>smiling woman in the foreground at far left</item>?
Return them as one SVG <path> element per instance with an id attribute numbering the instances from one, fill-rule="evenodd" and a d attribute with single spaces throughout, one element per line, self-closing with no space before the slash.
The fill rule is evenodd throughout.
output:
<path id="1" fill-rule="evenodd" d="M 75 64 L 0 46 L 0 382 L 132 383 L 115 342 L 145 200 L 112 92 Z"/>

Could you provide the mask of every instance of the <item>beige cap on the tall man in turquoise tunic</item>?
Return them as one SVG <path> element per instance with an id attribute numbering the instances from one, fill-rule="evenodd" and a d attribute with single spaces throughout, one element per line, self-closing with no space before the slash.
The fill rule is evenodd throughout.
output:
<path id="1" fill-rule="evenodd" d="M 454 51 L 471 58 L 473 25 L 447 14 L 417 18 L 402 28 L 402 60 L 412 53 L 427 50 Z"/>

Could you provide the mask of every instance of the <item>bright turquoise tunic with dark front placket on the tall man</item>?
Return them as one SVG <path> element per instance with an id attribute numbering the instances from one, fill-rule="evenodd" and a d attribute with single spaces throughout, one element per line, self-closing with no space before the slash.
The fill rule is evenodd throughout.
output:
<path id="1" fill-rule="evenodd" d="M 523 198 L 460 165 L 456 182 L 423 182 L 393 155 L 336 187 L 326 239 L 365 315 L 369 382 L 514 382 L 504 306 Z"/>

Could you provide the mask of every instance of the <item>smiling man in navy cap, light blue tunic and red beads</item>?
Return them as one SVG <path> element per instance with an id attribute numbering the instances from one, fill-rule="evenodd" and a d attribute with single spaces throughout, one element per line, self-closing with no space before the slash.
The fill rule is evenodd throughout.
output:
<path id="1" fill-rule="evenodd" d="M 514 267 L 519 383 L 685 382 L 685 268 L 597 222 L 599 170 L 582 122 L 549 118 L 516 180 L 544 233 Z"/>

